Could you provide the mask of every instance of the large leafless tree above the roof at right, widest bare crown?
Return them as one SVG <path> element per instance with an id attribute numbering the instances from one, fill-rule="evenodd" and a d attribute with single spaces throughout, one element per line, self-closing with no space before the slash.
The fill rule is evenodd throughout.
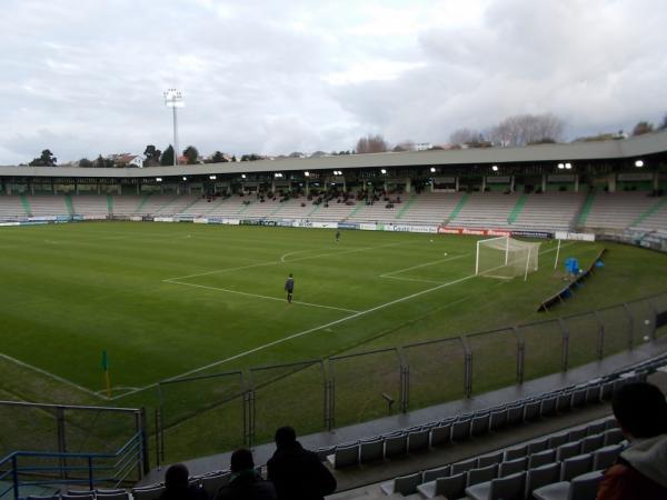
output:
<path id="1" fill-rule="evenodd" d="M 506 118 L 489 132 L 498 146 L 526 146 L 557 142 L 563 137 L 564 121 L 551 113 L 517 114 Z"/>

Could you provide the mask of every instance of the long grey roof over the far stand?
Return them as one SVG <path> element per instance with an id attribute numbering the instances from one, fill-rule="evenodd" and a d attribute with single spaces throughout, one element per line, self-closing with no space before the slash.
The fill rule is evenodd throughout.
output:
<path id="1" fill-rule="evenodd" d="M 631 159 L 667 152 L 667 131 L 623 140 L 539 144 L 522 148 L 475 148 L 385 152 L 372 154 L 285 158 L 280 160 L 207 163 L 180 167 L 79 168 L 79 167 L 0 167 L 0 177 L 88 177 L 146 178 L 225 173 L 289 172 L 306 170 L 346 170 L 381 167 L 466 166 L 485 163 L 545 163 L 581 160 Z"/>

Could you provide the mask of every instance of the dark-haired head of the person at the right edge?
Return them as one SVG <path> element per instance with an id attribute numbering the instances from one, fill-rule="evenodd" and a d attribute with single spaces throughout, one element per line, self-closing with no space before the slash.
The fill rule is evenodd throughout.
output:
<path id="1" fill-rule="evenodd" d="M 626 437 L 653 438 L 667 433 L 667 401 L 660 390 L 646 382 L 631 382 L 614 393 L 614 417 Z"/>

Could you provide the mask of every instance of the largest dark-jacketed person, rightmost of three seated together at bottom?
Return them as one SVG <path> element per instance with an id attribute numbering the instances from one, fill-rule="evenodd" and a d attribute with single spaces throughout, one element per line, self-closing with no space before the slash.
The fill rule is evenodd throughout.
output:
<path id="1" fill-rule="evenodd" d="M 336 479 L 312 451 L 297 441 L 291 427 L 276 431 L 276 452 L 268 461 L 278 500 L 322 500 L 336 491 Z"/>

